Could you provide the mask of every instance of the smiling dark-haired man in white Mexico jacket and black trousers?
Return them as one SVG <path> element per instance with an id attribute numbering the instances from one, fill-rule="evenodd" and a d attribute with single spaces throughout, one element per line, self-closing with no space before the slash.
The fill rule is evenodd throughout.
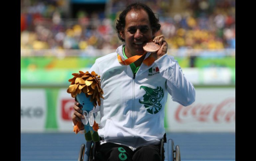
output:
<path id="1" fill-rule="evenodd" d="M 97 161 L 160 161 L 164 138 L 165 104 L 168 93 L 183 106 L 195 100 L 195 90 L 182 73 L 160 30 L 158 18 L 142 4 L 129 5 L 120 15 L 116 30 L 123 45 L 116 52 L 96 59 L 91 71 L 101 76 L 104 99 L 100 112 Z M 148 52 L 154 46 L 160 48 Z M 143 48 L 144 46 L 144 48 Z M 145 51 L 147 50 L 147 51 Z M 75 102 L 73 124 L 84 119 Z M 80 132 L 84 127 L 81 126 Z"/>

